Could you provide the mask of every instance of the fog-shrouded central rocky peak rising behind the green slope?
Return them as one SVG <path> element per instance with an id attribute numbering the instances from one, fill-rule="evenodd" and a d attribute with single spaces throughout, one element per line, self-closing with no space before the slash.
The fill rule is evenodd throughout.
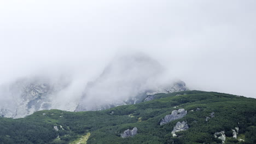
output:
<path id="1" fill-rule="evenodd" d="M 95 81 L 88 83 L 75 111 L 104 110 L 141 103 L 147 95 L 187 91 L 182 81 L 162 80 L 163 71 L 161 64 L 143 53 L 115 57 Z"/>

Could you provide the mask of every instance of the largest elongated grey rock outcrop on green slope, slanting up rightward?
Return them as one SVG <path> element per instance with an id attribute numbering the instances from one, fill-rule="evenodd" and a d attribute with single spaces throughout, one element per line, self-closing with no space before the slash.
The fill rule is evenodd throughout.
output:
<path id="1" fill-rule="evenodd" d="M 183 118 L 184 116 L 186 116 L 188 113 L 188 111 L 185 111 L 184 109 L 178 109 L 178 110 L 174 110 L 172 111 L 171 115 L 166 115 L 160 122 L 160 125 L 169 123 L 171 121 L 174 121 L 175 119 L 179 119 L 179 118 Z"/>

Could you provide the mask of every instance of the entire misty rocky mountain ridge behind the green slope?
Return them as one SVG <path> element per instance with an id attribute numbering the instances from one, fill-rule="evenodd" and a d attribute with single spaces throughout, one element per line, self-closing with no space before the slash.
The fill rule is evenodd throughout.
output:
<path id="1" fill-rule="evenodd" d="M 1 87 L 1 94 L 6 99 L 2 100 L 0 116 L 20 118 L 50 109 L 105 110 L 152 100 L 149 96 L 157 93 L 188 90 L 183 81 L 163 81 L 163 73 L 164 68 L 155 59 L 143 53 L 130 53 L 115 57 L 81 93 L 73 92 L 72 81 L 66 77 L 54 81 L 45 76 L 19 79 Z M 76 95 L 67 97 L 70 89 L 70 93 Z"/>

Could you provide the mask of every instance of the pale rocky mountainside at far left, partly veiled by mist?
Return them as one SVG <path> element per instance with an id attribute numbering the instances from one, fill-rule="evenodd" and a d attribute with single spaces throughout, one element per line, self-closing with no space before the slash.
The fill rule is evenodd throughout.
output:
<path id="1" fill-rule="evenodd" d="M 37 78 L 20 79 L 11 83 L 8 88 L 2 88 L 1 94 L 9 99 L 5 105 L 0 106 L 2 117 L 21 118 L 39 110 L 59 109 L 61 101 L 55 96 L 68 84 L 66 82 L 51 83 Z M 73 109 L 76 105 L 69 104 L 67 108 Z M 63 109 L 67 110 L 68 109 Z M 72 110 L 71 110 L 72 111 Z"/>

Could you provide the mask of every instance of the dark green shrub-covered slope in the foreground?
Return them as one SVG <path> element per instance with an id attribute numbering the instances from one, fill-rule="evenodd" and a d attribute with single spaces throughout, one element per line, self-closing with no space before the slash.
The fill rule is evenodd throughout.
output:
<path id="1" fill-rule="evenodd" d="M 185 117 L 159 124 L 181 108 L 188 111 Z M 212 112 L 214 117 L 206 121 Z M 189 129 L 173 137 L 173 127 L 182 121 Z M 133 127 L 138 129 L 137 135 L 120 136 Z M 232 138 L 235 127 L 240 129 L 238 139 L 245 141 Z M 0 143 L 222 143 L 214 137 L 220 131 L 225 131 L 225 143 L 256 143 L 256 99 L 187 91 L 157 94 L 152 101 L 104 111 L 44 110 L 26 118 L 0 118 Z"/>

